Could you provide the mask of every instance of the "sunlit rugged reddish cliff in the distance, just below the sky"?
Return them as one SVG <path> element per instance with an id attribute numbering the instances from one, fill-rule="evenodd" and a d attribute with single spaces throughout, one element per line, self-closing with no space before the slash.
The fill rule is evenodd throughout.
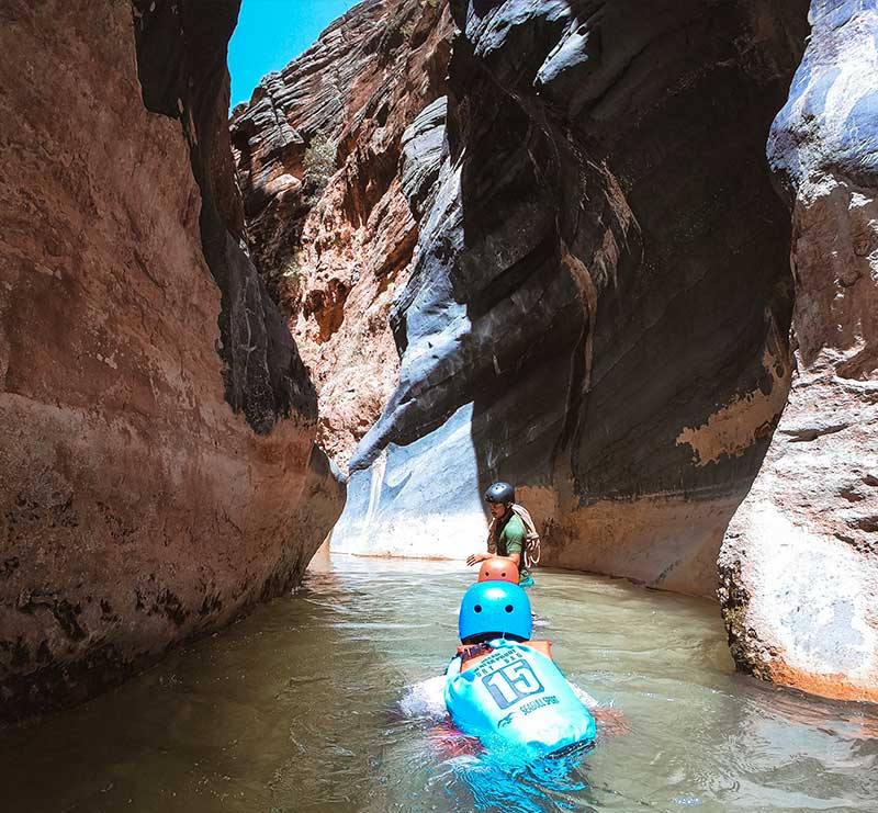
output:
<path id="1" fill-rule="evenodd" d="M 387 313 L 438 176 L 450 35 L 446 2 L 367 0 L 232 118 L 254 259 L 342 468 L 396 383 Z"/>

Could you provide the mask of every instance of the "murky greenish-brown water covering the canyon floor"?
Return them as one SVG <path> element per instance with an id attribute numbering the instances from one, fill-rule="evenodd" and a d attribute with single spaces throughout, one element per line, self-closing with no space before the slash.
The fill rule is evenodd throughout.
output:
<path id="1" fill-rule="evenodd" d="M 630 723 L 567 776 L 449 757 L 399 711 L 453 653 L 471 572 L 337 556 L 112 695 L 0 733 L 2 810 L 878 810 L 874 707 L 736 676 L 708 602 L 538 578 L 540 636 Z"/>

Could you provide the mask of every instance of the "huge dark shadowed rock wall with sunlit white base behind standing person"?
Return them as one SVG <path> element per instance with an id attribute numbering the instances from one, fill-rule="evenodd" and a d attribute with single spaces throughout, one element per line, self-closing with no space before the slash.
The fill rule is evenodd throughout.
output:
<path id="1" fill-rule="evenodd" d="M 544 562 L 712 594 L 789 382 L 764 140 L 807 3 L 451 9 L 449 153 L 391 313 L 399 384 L 334 545 L 402 549 L 408 515 L 435 518 L 423 551 L 472 549 L 502 477 L 539 505 Z"/>

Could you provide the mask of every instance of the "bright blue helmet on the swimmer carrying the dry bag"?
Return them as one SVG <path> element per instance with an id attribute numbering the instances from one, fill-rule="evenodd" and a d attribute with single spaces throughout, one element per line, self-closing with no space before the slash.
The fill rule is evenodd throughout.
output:
<path id="1" fill-rule="evenodd" d="M 527 641 L 533 631 L 530 599 L 508 581 L 476 581 L 461 599 L 458 631 L 461 641 L 486 633 Z"/>

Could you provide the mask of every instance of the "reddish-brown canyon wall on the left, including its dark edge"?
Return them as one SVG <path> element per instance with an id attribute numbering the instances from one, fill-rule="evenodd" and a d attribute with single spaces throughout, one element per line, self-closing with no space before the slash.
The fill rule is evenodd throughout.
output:
<path id="1" fill-rule="evenodd" d="M 3 720 L 277 595 L 344 499 L 314 389 L 237 247 L 236 14 L 0 11 Z"/>

